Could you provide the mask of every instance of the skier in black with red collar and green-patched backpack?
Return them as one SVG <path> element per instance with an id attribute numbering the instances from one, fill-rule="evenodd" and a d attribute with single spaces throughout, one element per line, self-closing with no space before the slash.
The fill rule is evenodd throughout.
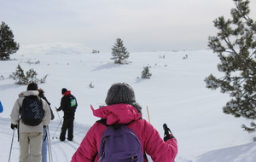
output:
<path id="1" fill-rule="evenodd" d="M 71 95 L 71 91 L 63 88 L 61 90 L 62 98 L 61 98 L 61 106 L 56 108 L 56 112 L 63 111 L 64 113 L 64 121 L 61 127 L 61 135 L 60 140 L 64 142 L 66 139 L 66 131 L 67 131 L 67 140 L 73 141 L 73 120 L 75 116 L 76 107 L 78 103 L 73 95 Z M 70 106 L 72 104 L 72 106 Z"/>

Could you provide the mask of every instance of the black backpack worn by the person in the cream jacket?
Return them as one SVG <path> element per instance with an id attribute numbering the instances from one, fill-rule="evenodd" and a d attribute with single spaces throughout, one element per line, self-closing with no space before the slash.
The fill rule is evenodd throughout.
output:
<path id="1" fill-rule="evenodd" d="M 36 126 L 44 118 L 43 102 L 38 96 L 25 96 L 20 107 L 20 117 L 24 124 Z"/>

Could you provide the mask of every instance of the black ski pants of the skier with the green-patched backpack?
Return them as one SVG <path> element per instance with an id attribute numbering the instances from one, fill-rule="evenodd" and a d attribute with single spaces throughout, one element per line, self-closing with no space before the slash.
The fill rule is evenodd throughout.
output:
<path id="1" fill-rule="evenodd" d="M 61 136 L 60 140 L 63 142 L 66 139 L 66 131 L 67 131 L 67 140 L 73 140 L 73 120 L 74 113 L 64 113 L 64 121 L 61 127 Z"/>

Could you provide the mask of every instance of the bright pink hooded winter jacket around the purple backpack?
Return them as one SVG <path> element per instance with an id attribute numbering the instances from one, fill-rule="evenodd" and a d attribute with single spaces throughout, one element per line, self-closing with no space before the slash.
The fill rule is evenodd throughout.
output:
<path id="1" fill-rule="evenodd" d="M 94 110 L 93 107 L 91 109 L 96 117 L 107 119 L 107 124 L 127 124 L 135 120 L 127 126 L 137 134 L 142 143 L 143 153 L 147 153 L 154 162 L 174 161 L 177 155 L 177 140 L 172 138 L 164 142 L 151 124 L 140 119 L 141 114 L 137 112 L 135 107 L 127 104 L 116 104 L 97 110 Z M 91 162 L 94 157 L 94 161 L 98 161 L 100 143 L 106 129 L 107 126 L 99 122 L 93 124 L 73 154 L 71 162 Z M 146 161 L 144 159 L 144 162 Z"/>

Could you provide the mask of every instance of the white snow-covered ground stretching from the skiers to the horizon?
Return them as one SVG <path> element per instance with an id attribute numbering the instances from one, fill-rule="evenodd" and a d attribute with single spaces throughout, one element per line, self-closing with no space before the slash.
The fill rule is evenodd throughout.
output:
<path id="1" fill-rule="evenodd" d="M 61 89 L 71 90 L 79 102 L 76 113 L 75 142 L 59 142 L 52 137 L 59 136 L 60 119 L 49 124 L 53 161 L 70 161 L 79 147 L 86 131 L 97 120 L 90 111 L 90 104 L 98 107 L 104 104 L 108 89 L 113 83 L 125 82 L 135 90 L 137 102 L 143 107 L 143 118 L 148 120 L 163 136 L 162 124 L 171 128 L 178 141 L 176 162 L 245 162 L 256 161 L 254 134 L 241 129 L 249 124 L 246 119 L 235 119 L 222 112 L 225 102 L 230 100 L 219 90 L 208 90 L 204 82 L 210 73 L 221 77 L 217 70 L 218 57 L 211 50 L 180 52 L 131 53 L 128 65 L 116 65 L 110 60 L 111 53 L 91 54 L 90 49 L 76 48 L 76 44 L 65 49 L 62 46 L 26 46 L 11 55 L 15 61 L 0 61 L 0 159 L 8 161 L 13 130 L 9 128 L 9 114 L 26 85 L 14 84 L 9 78 L 18 64 L 25 71 L 33 68 L 38 78 L 48 74 L 45 84 L 39 87 L 51 107 L 59 107 Z M 61 52 L 62 51 L 62 52 Z M 165 57 L 163 58 L 163 56 Z M 188 55 L 188 59 L 183 59 Z M 40 61 L 39 64 L 34 62 Z M 32 62 L 32 63 L 28 63 Z M 150 67 L 150 79 L 140 78 L 143 67 Z M 92 83 L 95 87 L 90 88 Z M 59 113 L 62 116 L 63 113 Z M 11 151 L 11 160 L 18 161 L 19 144 L 17 133 Z"/>

